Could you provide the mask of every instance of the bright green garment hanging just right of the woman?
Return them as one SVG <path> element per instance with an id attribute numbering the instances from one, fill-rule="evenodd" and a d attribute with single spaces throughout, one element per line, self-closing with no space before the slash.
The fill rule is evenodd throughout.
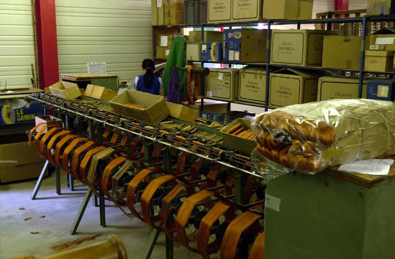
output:
<path id="1" fill-rule="evenodd" d="M 185 66 L 185 44 L 186 40 L 182 36 L 175 37 L 172 41 L 172 46 L 170 48 L 169 58 L 166 62 L 165 72 L 163 73 L 163 85 L 165 87 L 165 95 L 168 93 L 169 80 L 174 67 L 184 67 Z M 185 72 L 178 72 L 180 81 L 179 89 L 182 91 L 185 84 Z"/>

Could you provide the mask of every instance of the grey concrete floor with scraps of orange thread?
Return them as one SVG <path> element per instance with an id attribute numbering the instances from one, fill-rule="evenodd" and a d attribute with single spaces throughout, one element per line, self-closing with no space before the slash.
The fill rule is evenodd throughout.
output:
<path id="1" fill-rule="evenodd" d="M 83 200 L 85 186 L 77 185 L 80 191 L 71 192 L 67 188 L 66 175 L 61 174 L 62 195 L 56 194 L 55 175 L 47 177 L 38 192 L 37 199 L 30 196 L 36 179 L 30 181 L 0 184 L 0 258 L 35 255 L 42 258 L 53 254 L 53 245 L 60 245 L 77 238 L 102 234 L 116 234 L 123 241 L 128 258 L 144 258 L 143 252 L 149 237 L 147 225 L 138 219 L 130 219 L 117 207 L 106 203 L 106 228 L 100 226 L 99 208 L 90 202 L 81 221 L 77 234 L 71 236 L 69 230 Z M 19 210 L 24 207 L 24 210 Z M 45 215 L 45 218 L 39 218 Z M 24 221 L 32 217 L 31 220 Z M 38 231 L 39 234 L 30 234 Z M 92 241 L 86 241 L 81 245 Z M 174 258 L 201 258 L 199 254 L 174 243 Z M 80 245 L 80 246 L 81 246 Z M 71 246 L 68 249 L 71 249 Z M 219 257 L 215 254 L 214 257 Z M 166 258 L 165 235 L 161 234 L 151 256 Z"/>

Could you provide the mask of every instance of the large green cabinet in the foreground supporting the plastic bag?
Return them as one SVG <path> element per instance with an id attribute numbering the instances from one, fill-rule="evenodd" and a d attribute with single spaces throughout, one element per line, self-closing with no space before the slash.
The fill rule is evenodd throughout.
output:
<path id="1" fill-rule="evenodd" d="M 395 257 L 395 165 L 387 176 L 337 168 L 268 183 L 265 259 Z"/>

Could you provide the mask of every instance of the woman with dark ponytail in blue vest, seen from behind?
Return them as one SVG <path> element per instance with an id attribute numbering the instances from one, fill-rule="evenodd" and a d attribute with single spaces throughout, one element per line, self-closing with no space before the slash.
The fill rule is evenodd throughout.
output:
<path id="1" fill-rule="evenodd" d="M 143 75 L 136 76 L 132 81 L 131 90 L 136 90 L 152 95 L 165 95 L 161 77 L 157 77 L 153 74 L 155 64 L 151 59 L 144 59 L 143 64 Z"/>

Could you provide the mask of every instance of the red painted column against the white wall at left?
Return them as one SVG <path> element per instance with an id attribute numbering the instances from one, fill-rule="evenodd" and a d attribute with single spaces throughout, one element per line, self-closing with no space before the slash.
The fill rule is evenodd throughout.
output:
<path id="1" fill-rule="evenodd" d="M 35 0 L 40 88 L 59 81 L 54 0 Z"/>

